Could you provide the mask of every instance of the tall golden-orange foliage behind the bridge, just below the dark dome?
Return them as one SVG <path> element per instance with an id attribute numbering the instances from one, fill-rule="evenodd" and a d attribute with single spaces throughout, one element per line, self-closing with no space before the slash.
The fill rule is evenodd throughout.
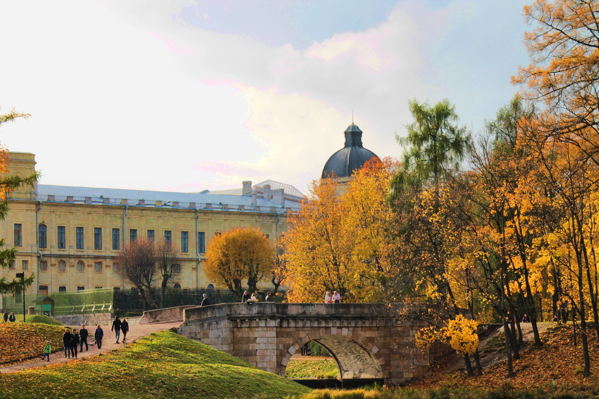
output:
<path id="1" fill-rule="evenodd" d="M 391 281 L 383 252 L 389 242 L 391 159 L 370 160 L 347 189 L 330 178 L 314 181 L 298 214 L 289 218 L 285 273 L 290 301 L 322 301 L 338 291 L 344 301 L 381 301 Z"/>

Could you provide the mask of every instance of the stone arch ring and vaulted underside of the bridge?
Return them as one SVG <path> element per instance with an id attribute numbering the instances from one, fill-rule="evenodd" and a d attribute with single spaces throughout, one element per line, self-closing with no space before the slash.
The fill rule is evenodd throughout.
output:
<path id="1" fill-rule="evenodd" d="M 331 327 L 330 330 L 319 328 L 317 333 L 308 334 L 298 339 L 281 360 L 280 376 L 285 376 L 285 370 L 291 357 L 299 351 L 302 345 L 310 341 L 319 343 L 329 351 L 337 363 L 340 379 L 388 377 L 383 372 L 385 359 L 380 355 L 377 357 L 379 348 L 358 332 L 335 327 Z"/>

